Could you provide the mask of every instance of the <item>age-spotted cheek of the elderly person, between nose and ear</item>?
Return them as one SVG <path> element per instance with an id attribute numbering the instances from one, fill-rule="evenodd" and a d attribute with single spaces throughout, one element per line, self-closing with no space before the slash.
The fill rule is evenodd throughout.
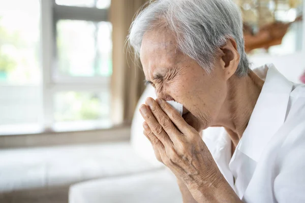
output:
<path id="1" fill-rule="evenodd" d="M 194 116 L 213 119 L 218 115 L 226 97 L 226 84 L 218 77 L 210 77 L 193 70 L 181 74 L 164 85 L 166 93 L 183 104 Z"/>

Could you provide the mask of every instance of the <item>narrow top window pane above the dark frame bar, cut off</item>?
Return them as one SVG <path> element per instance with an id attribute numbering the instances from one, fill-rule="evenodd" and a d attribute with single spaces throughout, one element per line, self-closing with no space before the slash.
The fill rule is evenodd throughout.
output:
<path id="1" fill-rule="evenodd" d="M 56 0 L 57 5 L 96 7 L 98 9 L 109 8 L 111 0 Z"/>

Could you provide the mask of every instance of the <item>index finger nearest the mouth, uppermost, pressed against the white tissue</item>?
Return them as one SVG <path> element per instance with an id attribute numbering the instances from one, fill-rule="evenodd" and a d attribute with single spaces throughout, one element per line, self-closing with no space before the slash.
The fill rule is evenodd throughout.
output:
<path id="1" fill-rule="evenodd" d="M 184 118 L 177 112 L 173 107 L 171 107 L 165 100 L 158 98 L 157 102 L 160 108 L 166 113 L 166 115 L 170 118 L 173 124 L 177 126 L 180 132 L 185 135 L 189 134 L 190 131 L 193 131 L 194 128 L 190 126 Z"/>

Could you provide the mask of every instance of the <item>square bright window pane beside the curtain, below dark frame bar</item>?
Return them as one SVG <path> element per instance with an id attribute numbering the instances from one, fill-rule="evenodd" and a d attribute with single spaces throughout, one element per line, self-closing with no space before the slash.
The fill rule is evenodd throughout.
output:
<path id="1" fill-rule="evenodd" d="M 57 74 L 78 77 L 111 76 L 111 32 L 109 22 L 58 21 Z"/>

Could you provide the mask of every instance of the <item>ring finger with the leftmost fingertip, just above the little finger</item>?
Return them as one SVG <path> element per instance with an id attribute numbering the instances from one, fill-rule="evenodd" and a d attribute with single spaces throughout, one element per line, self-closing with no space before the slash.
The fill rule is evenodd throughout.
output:
<path id="1" fill-rule="evenodd" d="M 140 107 L 140 112 L 142 117 L 146 121 L 147 125 L 149 126 L 149 129 L 144 128 L 145 130 L 147 129 L 150 131 L 150 132 L 146 131 L 148 136 L 150 133 L 153 133 L 154 137 L 157 137 L 161 141 L 164 147 L 172 146 L 172 141 L 169 139 L 167 133 L 164 131 L 164 129 L 156 120 L 155 116 L 153 115 L 153 113 L 151 113 L 148 107 L 146 105 L 142 105 Z M 150 136 L 149 138 L 151 139 Z M 153 140 L 151 139 L 151 141 Z"/>

